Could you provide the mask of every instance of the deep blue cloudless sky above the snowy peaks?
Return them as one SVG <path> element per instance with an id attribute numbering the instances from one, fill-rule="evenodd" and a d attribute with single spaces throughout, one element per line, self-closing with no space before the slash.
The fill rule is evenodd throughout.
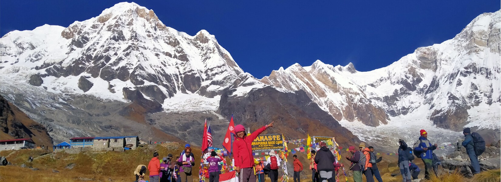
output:
<path id="1" fill-rule="evenodd" d="M 43 24 L 67 27 L 97 16 L 113 0 L 2 0 L 0 34 Z M 129 1 L 131 2 L 131 1 Z M 454 37 L 499 0 L 135 0 L 167 26 L 215 35 L 236 63 L 261 78 L 296 62 L 353 62 L 359 71 L 384 67 L 417 47 Z"/>

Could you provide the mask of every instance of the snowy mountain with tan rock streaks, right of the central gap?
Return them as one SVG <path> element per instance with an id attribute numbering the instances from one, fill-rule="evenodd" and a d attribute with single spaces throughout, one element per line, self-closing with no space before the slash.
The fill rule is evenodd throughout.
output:
<path id="1" fill-rule="evenodd" d="M 420 125 L 428 120 L 456 131 L 466 125 L 499 132 L 499 18 L 500 11 L 483 13 L 454 38 L 417 48 L 376 70 L 317 60 L 311 66 L 281 67 L 261 81 L 305 90 L 340 121 L 378 126 L 414 120 L 418 114 Z"/>

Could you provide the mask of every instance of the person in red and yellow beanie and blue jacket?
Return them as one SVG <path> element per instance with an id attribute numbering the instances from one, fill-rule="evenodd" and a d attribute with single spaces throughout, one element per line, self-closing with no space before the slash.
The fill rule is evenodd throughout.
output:
<path id="1" fill-rule="evenodd" d="M 414 144 L 414 155 L 421 158 L 424 163 L 424 178 L 430 179 L 430 173 L 432 168 L 433 150 L 437 148 L 437 144 L 431 144 L 428 140 L 428 132 L 424 129 L 419 131 L 421 136 L 419 140 Z"/>

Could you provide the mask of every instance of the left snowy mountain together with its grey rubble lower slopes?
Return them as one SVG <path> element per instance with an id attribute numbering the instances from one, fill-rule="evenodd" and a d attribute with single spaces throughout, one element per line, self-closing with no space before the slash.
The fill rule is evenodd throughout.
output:
<path id="1" fill-rule="evenodd" d="M 167 27 L 134 2 L 68 27 L 9 32 L 0 38 L 0 60 L 0 93 L 47 126 L 55 141 L 124 132 L 159 139 L 164 135 L 158 131 L 176 125 L 164 128 L 167 122 L 147 118 L 158 111 L 223 124 L 215 110 L 224 90 L 237 88 L 238 95 L 249 85 L 265 86 L 243 72 L 214 35 Z M 168 133 L 179 137 L 200 129 L 179 127 Z"/>

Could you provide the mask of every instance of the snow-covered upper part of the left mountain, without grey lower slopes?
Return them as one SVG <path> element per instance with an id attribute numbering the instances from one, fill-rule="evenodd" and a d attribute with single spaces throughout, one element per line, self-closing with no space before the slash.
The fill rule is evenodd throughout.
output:
<path id="1" fill-rule="evenodd" d="M 12 31 L 0 44 L 0 73 L 27 77 L 53 92 L 122 100 L 129 87 L 164 103 L 176 94 L 212 98 L 249 76 L 214 35 L 179 32 L 134 2 L 67 28 Z"/>

